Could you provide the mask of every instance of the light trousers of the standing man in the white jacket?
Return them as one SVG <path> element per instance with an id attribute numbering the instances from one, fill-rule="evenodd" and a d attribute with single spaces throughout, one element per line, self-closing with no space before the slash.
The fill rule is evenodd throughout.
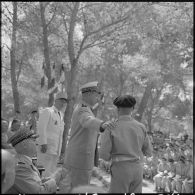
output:
<path id="1" fill-rule="evenodd" d="M 41 153 L 40 151 L 37 153 L 37 165 L 42 165 L 45 168 L 43 171 L 43 177 L 49 177 L 56 171 L 58 155 Z"/>

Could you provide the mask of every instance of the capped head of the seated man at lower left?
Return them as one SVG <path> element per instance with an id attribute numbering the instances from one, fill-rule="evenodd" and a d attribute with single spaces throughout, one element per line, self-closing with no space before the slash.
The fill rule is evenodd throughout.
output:
<path id="1" fill-rule="evenodd" d="M 38 135 L 34 134 L 29 129 L 20 129 L 8 140 L 15 148 L 18 154 L 23 154 L 29 157 L 37 155 L 35 139 Z"/>

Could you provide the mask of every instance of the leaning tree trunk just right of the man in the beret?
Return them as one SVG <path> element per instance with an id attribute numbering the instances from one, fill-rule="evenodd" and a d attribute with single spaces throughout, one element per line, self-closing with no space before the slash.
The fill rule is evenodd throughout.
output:
<path id="1" fill-rule="evenodd" d="M 145 88 L 145 92 L 144 92 L 144 95 L 142 97 L 142 100 L 141 100 L 141 103 L 138 107 L 138 110 L 137 110 L 137 113 L 136 113 L 136 116 L 135 116 L 135 119 L 138 120 L 138 121 L 141 121 L 142 120 L 142 116 L 143 116 L 143 113 L 146 109 L 146 106 L 148 104 L 148 100 L 151 96 L 151 90 L 153 88 L 153 82 L 152 81 L 149 81 L 146 88 Z"/>

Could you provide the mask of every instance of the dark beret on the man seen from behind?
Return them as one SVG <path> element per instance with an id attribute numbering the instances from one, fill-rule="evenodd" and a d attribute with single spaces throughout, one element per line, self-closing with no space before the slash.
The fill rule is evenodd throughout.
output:
<path id="1" fill-rule="evenodd" d="M 128 108 L 131 108 L 131 107 L 135 106 L 136 100 L 135 100 L 135 98 L 133 96 L 122 95 L 122 96 L 117 97 L 113 101 L 113 104 L 116 107 L 123 107 L 123 108 L 128 107 Z"/>

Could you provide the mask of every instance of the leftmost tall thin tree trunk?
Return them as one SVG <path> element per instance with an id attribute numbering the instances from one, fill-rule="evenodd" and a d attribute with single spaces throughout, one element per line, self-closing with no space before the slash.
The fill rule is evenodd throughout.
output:
<path id="1" fill-rule="evenodd" d="M 20 111 L 19 92 L 16 81 L 16 31 L 17 31 L 17 2 L 13 2 L 13 26 L 12 26 L 12 42 L 10 51 L 11 65 L 11 84 L 14 99 L 14 111 Z"/>

